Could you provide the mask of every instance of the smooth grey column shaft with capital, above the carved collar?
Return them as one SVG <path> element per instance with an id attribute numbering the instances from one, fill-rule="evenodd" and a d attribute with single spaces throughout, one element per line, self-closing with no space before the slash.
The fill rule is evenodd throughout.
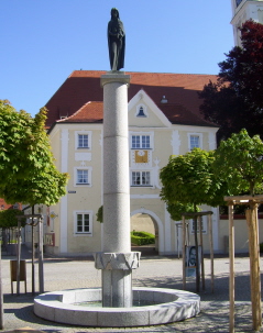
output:
<path id="1" fill-rule="evenodd" d="M 113 71 L 114 73 L 114 71 Z M 130 252 L 128 85 L 130 76 L 109 73 L 103 87 L 103 252 Z"/>

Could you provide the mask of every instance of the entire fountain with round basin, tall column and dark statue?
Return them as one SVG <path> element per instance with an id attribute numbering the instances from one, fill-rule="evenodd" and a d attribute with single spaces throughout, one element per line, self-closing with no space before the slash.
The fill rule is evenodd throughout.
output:
<path id="1" fill-rule="evenodd" d="M 109 53 L 111 71 L 101 76 L 103 87 L 103 242 L 95 254 L 102 288 L 75 289 L 40 295 L 34 313 L 46 320 L 85 326 L 140 326 L 195 317 L 199 296 L 164 288 L 132 288 L 132 269 L 140 253 L 131 252 L 128 137 L 128 86 L 130 76 L 119 69 L 124 63 L 124 30 L 119 12 L 111 10 Z M 118 36 L 111 29 L 118 22 Z M 113 26 L 113 27 L 112 27 Z M 133 300 L 150 306 L 133 307 Z M 86 302 L 92 302 L 87 307 Z M 101 302 L 96 307 L 94 302 Z"/>

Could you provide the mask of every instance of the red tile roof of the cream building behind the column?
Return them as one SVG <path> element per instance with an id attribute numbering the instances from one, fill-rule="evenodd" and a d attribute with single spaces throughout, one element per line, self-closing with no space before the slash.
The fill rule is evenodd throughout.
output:
<path id="1" fill-rule="evenodd" d="M 67 121 L 63 122 L 101 122 L 103 93 L 100 77 L 106 71 L 73 71 L 46 103 L 47 126 L 61 116 L 68 116 Z M 143 89 L 173 123 L 208 125 L 199 112 L 201 100 L 197 91 L 202 90 L 209 80 L 216 81 L 217 76 L 131 71 L 125 74 L 131 75 L 129 100 Z M 167 99 L 167 104 L 160 103 L 163 96 Z M 73 114 L 74 116 L 70 116 Z"/>

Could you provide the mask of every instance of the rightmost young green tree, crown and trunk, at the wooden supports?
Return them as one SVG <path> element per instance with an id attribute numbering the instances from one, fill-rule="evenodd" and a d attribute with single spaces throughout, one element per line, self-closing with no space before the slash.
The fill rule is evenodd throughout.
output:
<path id="1" fill-rule="evenodd" d="M 223 177 L 232 196 L 238 195 L 228 198 L 231 210 L 237 201 L 246 202 L 249 206 L 245 219 L 249 229 L 252 318 L 253 330 L 259 331 L 262 324 L 262 310 L 257 202 L 263 203 L 263 200 L 255 195 L 263 192 L 263 142 L 260 136 L 250 137 L 248 132 L 242 130 L 221 142 L 216 153 L 215 173 Z M 250 196 L 239 196 L 244 192 L 249 192 Z M 231 262 L 233 263 L 233 258 Z M 231 307 L 233 308 L 233 304 Z"/>

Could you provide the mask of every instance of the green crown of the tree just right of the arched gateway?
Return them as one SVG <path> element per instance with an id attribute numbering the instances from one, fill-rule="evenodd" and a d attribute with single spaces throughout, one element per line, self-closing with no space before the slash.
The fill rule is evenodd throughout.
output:
<path id="1" fill-rule="evenodd" d="M 183 210 L 196 212 L 197 206 L 200 204 L 217 207 L 223 203 L 227 188 L 226 184 L 213 175 L 213 151 L 195 148 L 186 155 L 172 156 L 168 164 L 162 168 L 161 197 L 173 212 L 173 218 L 180 220 Z"/>

